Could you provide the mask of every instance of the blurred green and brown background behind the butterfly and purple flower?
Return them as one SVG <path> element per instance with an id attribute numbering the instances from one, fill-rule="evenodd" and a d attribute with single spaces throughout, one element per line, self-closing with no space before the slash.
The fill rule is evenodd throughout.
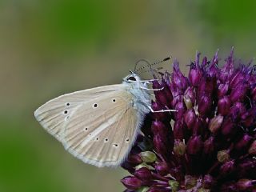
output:
<path id="1" fill-rule="evenodd" d="M 0 0 L 0 191 L 122 191 L 34 119 L 50 98 L 119 83 L 140 58 L 256 55 L 254 0 Z M 168 64 L 170 70 L 170 63 Z"/>

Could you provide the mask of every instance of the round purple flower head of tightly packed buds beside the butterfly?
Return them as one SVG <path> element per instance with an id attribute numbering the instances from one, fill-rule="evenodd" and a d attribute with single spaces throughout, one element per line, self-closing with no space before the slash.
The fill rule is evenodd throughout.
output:
<path id="1" fill-rule="evenodd" d="M 255 66 L 234 59 L 223 66 L 196 54 L 188 77 L 178 61 L 160 73 L 148 114 L 122 167 L 126 192 L 256 192 Z"/>

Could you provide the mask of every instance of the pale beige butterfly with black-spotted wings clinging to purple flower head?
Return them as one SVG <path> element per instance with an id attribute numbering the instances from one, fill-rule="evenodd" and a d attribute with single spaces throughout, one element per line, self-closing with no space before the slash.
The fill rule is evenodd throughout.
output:
<path id="1" fill-rule="evenodd" d="M 115 167 L 127 158 L 151 105 L 150 81 L 131 72 L 121 84 L 63 94 L 35 110 L 34 117 L 74 157 Z"/>

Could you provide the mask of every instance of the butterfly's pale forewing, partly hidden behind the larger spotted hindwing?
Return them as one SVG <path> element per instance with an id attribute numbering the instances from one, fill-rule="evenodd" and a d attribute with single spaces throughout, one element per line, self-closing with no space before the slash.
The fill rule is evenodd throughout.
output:
<path id="1" fill-rule="evenodd" d="M 72 114 L 75 114 L 79 107 L 95 98 L 105 97 L 107 94 L 123 89 L 123 85 L 118 84 L 63 94 L 40 106 L 34 112 L 34 116 L 43 128 L 62 142 L 62 133 L 66 121 Z"/>

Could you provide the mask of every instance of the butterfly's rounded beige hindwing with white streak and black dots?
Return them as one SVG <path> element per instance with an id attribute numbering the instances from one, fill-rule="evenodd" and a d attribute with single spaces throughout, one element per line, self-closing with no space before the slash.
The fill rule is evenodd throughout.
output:
<path id="1" fill-rule="evenodd" d="M 141 117 L 134 96 L 119 89 L 79 106 L 63 132 L 66 150 L 94 166 L 118 166 L 134 143 Z"/>

